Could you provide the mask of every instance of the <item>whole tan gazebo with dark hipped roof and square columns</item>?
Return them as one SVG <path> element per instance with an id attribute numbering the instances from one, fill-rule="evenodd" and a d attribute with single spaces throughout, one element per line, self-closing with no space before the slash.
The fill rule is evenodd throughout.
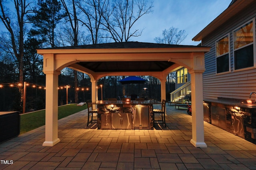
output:
<path id="1" fill-rule="evenodd" d="M 104 76 L 154 76 L 161 82 L 161 98 L 166 99 L 166 77 L 186 67 L 191 76 L 192 139 L 195 147 L 204 142 L 203 88 L 204 53 L 210 47 L 118 42 L 38 49 L 44 57 L 46 74 L 46 125 L 43 146 L 54 146 L 58 138 L 58 75 L 69 67 L 88 74 L 92 82 L 92 102 L 97 100 L 97 80 Z"/>

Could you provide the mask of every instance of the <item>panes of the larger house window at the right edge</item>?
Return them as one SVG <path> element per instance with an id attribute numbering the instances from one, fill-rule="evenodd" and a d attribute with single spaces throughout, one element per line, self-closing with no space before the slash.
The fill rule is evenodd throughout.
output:
<path id="1" fill-rule="evenodd" d="M 234 69 L 254 66 L 254 22 L 250 21 L 234 31 Z"/>

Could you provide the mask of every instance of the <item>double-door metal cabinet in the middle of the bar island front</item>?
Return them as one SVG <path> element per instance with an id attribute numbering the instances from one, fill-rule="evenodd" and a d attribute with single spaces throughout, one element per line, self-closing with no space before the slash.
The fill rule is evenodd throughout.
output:
<path id="1" fill-rule="evenodd" d="M 111 129 L 132 129 L 132 114 L 111 113 Z"/>

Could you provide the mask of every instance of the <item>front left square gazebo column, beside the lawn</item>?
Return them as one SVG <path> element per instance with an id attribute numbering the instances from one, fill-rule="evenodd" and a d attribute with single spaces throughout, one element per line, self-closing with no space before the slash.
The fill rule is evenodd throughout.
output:
<path id="1" fill-rule="evenodd" d="M 52 147 L 60 142 L 58 138 L 58 71 L 44 71 L 46 74 L 45 97 L 45 142 L 43 146 Z"/>

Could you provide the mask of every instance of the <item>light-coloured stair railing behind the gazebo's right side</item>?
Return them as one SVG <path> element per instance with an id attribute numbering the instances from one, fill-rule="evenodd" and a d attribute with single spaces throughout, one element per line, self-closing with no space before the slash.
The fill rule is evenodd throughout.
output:
<path id="1" fill-rule="evenodd" d="M 180 88 L 174 90 L 170 93 L 171 95 L 171 102 L 176 102 L 182 100 L 186 95 L 191 93 L 191 82 L 187 82 Z"/>

